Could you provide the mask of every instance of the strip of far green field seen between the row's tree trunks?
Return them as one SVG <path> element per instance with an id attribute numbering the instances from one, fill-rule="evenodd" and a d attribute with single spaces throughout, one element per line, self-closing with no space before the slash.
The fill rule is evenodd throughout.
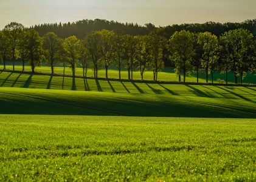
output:
<path id="1" fill-rule="evenodd" d="M 12 70 L 12 66 L 8 65 L 7 69 Z M 15 70 L 22 70 L 22 66 L 20 66 L 20 65 L 15 66 Z M 25 70 L 31 71 L 30 66 L 26 66 Z M 50 70 L 49 66 L 44 65 L 43 67 L 36 67 L 35 72 L 50 73 L 51 70 Z M 63 74 L 63 67 L 55 67 L 55 73 Z M 72 71 L 69 68 L 66 68 L 65 73 L 72 75 Z M 115 67 L 111 67 L 108 71 L 108 74 L 109 74 L 109 78 L 119 78 L 119 73 Z M 83 71 L 81 68 L 76 69 L 76 75 L 77 76 L 83 75 Z M 93 70 L 88 69 L 88 76 L 92 77 L 93 75 L 94 75 Z M 137 79 L 137 80 L 141 79 L 139 71 L 134 72 L 133 75 L 134 75 L 134 79 Z M 128 79 L 128 73 L 125 69 L 122 69 L 121 76 L 122 76 L 122 79 Z M 99 77 L 105 78 L 105 69 L 99 70 Z M 217 81 L 218 78 L 225 80 L 226 75 L 219 73 L 219 72 L 214 73 L 214 83 L 218 83 L 218 81 Z M 145 72 L 144 79 L 145 80 L 153 80 L 153 72 L 151 72 L 151 71 Z M 159 79 L 159 81 L 178 81 L 178 76 L 175 74 L 173 69 L 165 68 L 162 70 L 162 72 L 159 72 L 158 79 Z M 234 83 L 234 81 L 235 81 L 234 73 L 232 73 L 232 72 L 229 73 L 228 79 L 229 79 L 229 83 Z M 182 77 L 182 81 L 183 81 L 183 77 Z M 195 73 L 187 74 L 186 81 L 190 82 L 190 83 L 192 83 L 192 82 L 196 83 L 196 74 Z M 211 82 L 211 76 L 209 75 L 209 83 L 210 82 Z M 238 77 L 238 82 L 240 82 L 239 77 Z M 204 73 L 199 74 L 199 83 L 206 83 Z M 246 77 L 243 79 L 243 83 L 256 84 L 255 73 L 248 73 L 246 75 Z"/>

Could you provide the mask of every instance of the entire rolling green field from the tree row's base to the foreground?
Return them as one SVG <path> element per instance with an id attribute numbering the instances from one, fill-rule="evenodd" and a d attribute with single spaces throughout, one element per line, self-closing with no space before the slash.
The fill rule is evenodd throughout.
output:
<path id="1" fill-rule="evenodd" d="M 0 128 L 0 181 L 256 181 L 256 87 L 0 71 Z"/>

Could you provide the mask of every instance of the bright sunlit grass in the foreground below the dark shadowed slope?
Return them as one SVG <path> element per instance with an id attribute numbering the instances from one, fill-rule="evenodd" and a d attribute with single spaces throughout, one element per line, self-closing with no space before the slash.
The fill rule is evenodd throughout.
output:
<path id="1" fill-rule="evenodd" d="M 0 181 L 255 181 L 256 120 L 0 115 Z"/>

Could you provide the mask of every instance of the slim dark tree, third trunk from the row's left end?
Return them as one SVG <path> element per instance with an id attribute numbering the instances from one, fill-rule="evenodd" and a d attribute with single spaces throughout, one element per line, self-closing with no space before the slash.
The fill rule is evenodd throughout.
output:
<path id="1" fill-rule="evenodd" d="M 27 49 L 27 44 L 29 44 L 27 36 L 27 32 L 23 30 L 20 34 L 19 40 L 18 40 L 18 47 L 16 52 L 16 57 L 21 59 L 22 61 L 22 72 L 25 70 L 25 61 L 29 58 L 29 53 Z"/>

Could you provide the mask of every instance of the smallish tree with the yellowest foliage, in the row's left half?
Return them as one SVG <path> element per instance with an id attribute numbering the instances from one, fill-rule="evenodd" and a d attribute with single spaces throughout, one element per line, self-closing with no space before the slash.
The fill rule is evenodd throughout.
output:
<path id="1" fill-rule="evenodd" d="M 63 49 L 66 53 L 66 60 L 69 63 L 69 67 L 72 69 L 72 76 L 75 76 L 75 68 L 77 67 L 78 59 L 80 58 L 80 46 L 81 42 L 76 36 L 69 36 L 64 39 Z"/>

